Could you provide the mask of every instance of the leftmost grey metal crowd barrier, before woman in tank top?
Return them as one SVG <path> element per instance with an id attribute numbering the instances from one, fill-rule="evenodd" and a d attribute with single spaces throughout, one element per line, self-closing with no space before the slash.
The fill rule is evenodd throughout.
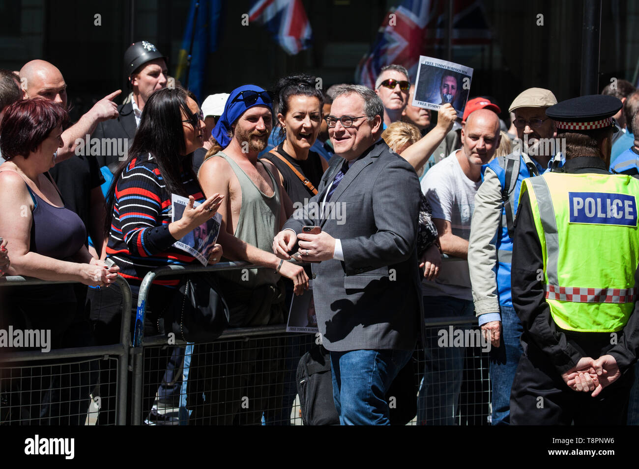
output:
<path id="1" fill-rule="evenodd" d="M 52 285 L 56 283 L 75 283 L 72 281 L 45 281 L 36 278 L 26 278 L 22 276 L 7 276 L 0 278 L 0 287 L 20 287 L 27 285 Z M 0 372 L 8 371 L 10 377 L 8 381 L 12 379 L 20 379 L 13 377 L 13 371 L 19 371 L 20 375 L 26 369 L 33 368 L 34 366 L 24 365 L 25 363 L 33 362 L 38 364 L 38 367 L 43 368 L 56 367 L 62 369 L 62 366 L 68 366 L 74 363 L 67 362 L 68 359 L 93 359 L 98 358 L 107 359 L 108 357 L 116 357 L 118 361 L 117 374 L 116 374 L 116 424 L 124 425 L 127 419 L 127 381 L 128 381 L 128 354 L 130 347 L 130 311 L 131 311 L 131 289 L 125 279 L 118 276 L 115 283 L 119 285 L 119 288 L 123 296 L 123 312 L 122 321 L 120 325 L 120 341 L 118 344 L 113 345 L 101 345 L 101 346 L 86 346 L 75 348 L 60 348 L 52 349 L 46 354 L 40 351 L 26 350 L 23 352 L 5 352 L 0 349 Z M 57 363 L 55 362 L 57 361 Z M 8 367 L 4 364 L 17 363 L 17 367 Z M 99 371 L 98 371 L 99 373 Z M 56 376 L 54 371 L 51 371 L 51 375 L 47 377 Z M 59 376 L 58 376 L 59 377 Z M 2 380 L 0 379 L 0 390 L 2 389 Z M 58 391 L 60 391 L 58 389 Z M 31 392 L 48 392 L 45 389 L 35 389 Z M 86 400 L 89 400 L 89 395 L 86 396 Z M 59 404 L 59 403 L 57 403 Z M 68 404 L 68 403 L 67 403 Z M 52 403 L 56 405 L 56 403 Z M 2 402 L 0 401 L 0 410 Z M 58 417 L 71 417 L 70 415 L 59 415 Z M 0 421 L 0 423 L 3 423 Z"/>

